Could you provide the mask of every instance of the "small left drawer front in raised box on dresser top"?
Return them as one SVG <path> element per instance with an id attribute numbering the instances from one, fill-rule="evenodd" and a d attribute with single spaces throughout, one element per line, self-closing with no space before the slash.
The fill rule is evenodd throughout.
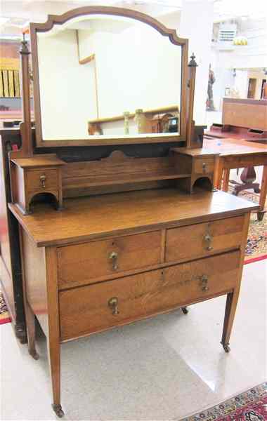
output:
<path id="1" fill-rule="evenodd" d="M 43 180 L 43 181 L 41 181 Z M 58 170 L 27 171 L 26 188 L 28 192 L 55 189 L 58 187 Z"/>

